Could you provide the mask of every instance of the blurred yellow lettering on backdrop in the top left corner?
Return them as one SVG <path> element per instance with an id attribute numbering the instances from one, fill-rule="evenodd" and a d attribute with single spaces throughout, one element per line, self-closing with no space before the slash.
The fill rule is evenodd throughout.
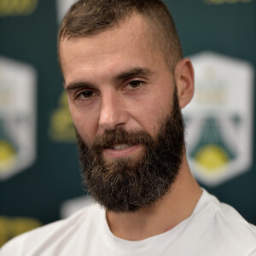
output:
<path id="1" fill-rule="evenodd" d="M 38 0 L 0 0 L 0 16 L 32 15 Z"/>

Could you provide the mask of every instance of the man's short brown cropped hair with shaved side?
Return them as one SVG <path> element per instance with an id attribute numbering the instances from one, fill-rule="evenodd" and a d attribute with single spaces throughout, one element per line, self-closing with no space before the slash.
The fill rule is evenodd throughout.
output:
<path id="1" fill-rule="evenodd" d="M 96 35 L 133 13 L 148 20 L 154 43 L 163 51 L 168 65 L 174 68 L 183 57 L 182 47 L 172 15 L 160 0 L 79 0 L 73 3 L 62 20 L 58 48 L 61 38 Z"/>

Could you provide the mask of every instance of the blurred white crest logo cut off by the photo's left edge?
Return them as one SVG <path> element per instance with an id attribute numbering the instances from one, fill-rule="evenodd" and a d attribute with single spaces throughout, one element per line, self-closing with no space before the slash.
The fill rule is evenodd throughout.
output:
<path id="1" fill-rule="evenodd" d="M 31 166 L 36 157 L 36 72 L 0 57 L 0 179 Z"/>

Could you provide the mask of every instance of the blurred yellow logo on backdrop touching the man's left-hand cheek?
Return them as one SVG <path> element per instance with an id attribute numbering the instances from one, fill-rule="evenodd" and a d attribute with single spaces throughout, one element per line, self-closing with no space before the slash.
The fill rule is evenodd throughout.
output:
<path id="1" fill-rule="evenodd" d="M 51 114 L 49 120 L 49 137 L 58 143 L 74 143 L 76 140 L 73 120 L 69 113 L 65 91 L 61 94 L 59 107 Z"/>

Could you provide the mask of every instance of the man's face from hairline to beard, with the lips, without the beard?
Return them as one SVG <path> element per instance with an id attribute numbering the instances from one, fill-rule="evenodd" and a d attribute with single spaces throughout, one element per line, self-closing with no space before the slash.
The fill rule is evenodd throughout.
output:
<path id="1" fill-rule="evenodd" d="M 161 125 L 171 118 L 175 83 L 149 34 L 143 18 L 132 15 L 95 36 L 61 41 L 70 113 L 88 148 L 109 131 L 143 132 L 153 141 L 165 131 Z M 103 163 L 142 164 L 145 143 L 112 140 L 102 148 Z"/>

